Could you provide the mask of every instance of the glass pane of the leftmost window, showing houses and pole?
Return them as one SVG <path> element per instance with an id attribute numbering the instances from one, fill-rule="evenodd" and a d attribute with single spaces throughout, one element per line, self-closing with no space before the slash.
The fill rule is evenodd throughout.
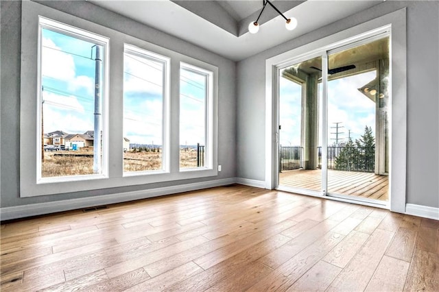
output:
<path id="1" fill-rule="evenodd" d="M 42 28 L 40 49 L 41 177 L 102 173 L 105 47 Z"/>

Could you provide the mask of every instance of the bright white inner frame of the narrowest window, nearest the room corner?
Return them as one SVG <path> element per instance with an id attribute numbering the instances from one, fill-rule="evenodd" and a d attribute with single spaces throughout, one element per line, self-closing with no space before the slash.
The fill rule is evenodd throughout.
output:
<path id="1" fill-rule="evenodd" d="M 186 62 L 180 62 L 180 69 L 188 69 L 195 73 L 206 75 L 206 106 L 205 106 L 205 125 L 204 135 L 206 137 L 206 145 L 204 147 L 205 162 L 204 167 L 188 167 L 180 168 L 181 172 L 198 171 L 200 169 L 213 169 L 213 72 L 199 66 L 194 66 Z M 179 79 L 180 80 L 180 79 Z M 179 95 L 180 96 L 180 95 Z M 180 152 L 179 152 L 180 154 Z M 180 158 L 178 158 L 180 162 Z"/>

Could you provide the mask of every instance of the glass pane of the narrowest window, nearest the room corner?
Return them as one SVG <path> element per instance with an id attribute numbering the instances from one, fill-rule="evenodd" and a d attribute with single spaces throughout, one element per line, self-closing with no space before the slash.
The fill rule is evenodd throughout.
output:
<path id="1" fill-rule="evenodd" d="M 180 69 L 180 168 L 205 167 L 207 77 Z"/>

